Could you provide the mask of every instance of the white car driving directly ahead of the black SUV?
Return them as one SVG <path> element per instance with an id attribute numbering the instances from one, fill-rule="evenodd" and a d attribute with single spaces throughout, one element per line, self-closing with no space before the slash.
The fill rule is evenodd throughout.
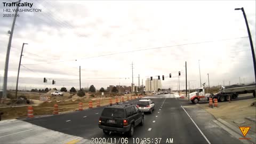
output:
<path id="1" fill-rule="evenodd" d="M 152 114 L 152 111 L 155 109 L 155 102 L 152 102 L 150 99 L 142 99 L 139 100 L 137 107 L 143 112 Z"/>

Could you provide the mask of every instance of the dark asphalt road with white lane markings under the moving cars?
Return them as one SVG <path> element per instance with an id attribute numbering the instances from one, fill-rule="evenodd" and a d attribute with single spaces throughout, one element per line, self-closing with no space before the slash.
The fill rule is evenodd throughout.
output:
<path id="1" fill-rule="evenodd" d="M 155 102 L 155 110 L 152 114 L 145 114 L 145 124 L 135 127 L 133 137 L 127 139 L 127 142 L 136 143 L 137 140 L 139 143 L 149 138 L 150 143 L 241 143 L 217 124 L 212 123 L 214 118 L 206 111 L 183 108 L 182 102 L 175 97 L 177 95 L 174 94 L 147 97 Z M 125 103 L 136 104 L 138 100 Z M 103 107 L 99 107 L 24 121 L 88 140 L 111 138 L 112 143 L 121 143 L 119 139 L 126 138 L 125 135 L 118 133 L 106 135 L 98 128 L 102 109 Z"/>

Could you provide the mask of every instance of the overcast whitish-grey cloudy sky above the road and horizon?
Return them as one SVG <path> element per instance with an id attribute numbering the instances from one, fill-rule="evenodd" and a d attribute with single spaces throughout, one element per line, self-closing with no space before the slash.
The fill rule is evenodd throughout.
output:
<path id="1" fill-rule="evenodd" d="M 10 36 L 7 31 L 13 21 L 13 17 L 3 17 L 3 2 L 7 1 L 0 4 L 0 89 Z M 79 66 L 81 87 L 129 86 L 132 62 L 135 85 L 139 85 L 139 75 L 140 85 L 142 79 L 145 84 L 150 76 L 164 75 L 164 89 L 177 90 L 178 79 L 180 89 L 185 89 L 185 62 L 190 89 L 200 86 L 199 65 L 206 85 L 207 74 L 210 86 L 255 81 L 243 13 L 234 10 L 244 7 L 255 51 L 255 1 L 21 2 L 33 3 L 31 8 L 42 12 L 18 12 L 8 89 L 15 89 L 22 43 L 28 45 L 23 50 L 19 89 L 78 88 Z M 47 83 L 43 83 L 44 77 Z"/>

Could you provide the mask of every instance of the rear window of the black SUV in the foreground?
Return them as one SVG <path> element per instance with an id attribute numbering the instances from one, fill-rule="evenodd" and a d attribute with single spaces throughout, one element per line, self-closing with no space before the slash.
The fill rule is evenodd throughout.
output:
<path id="1" fill-rule="evenodd" d="M 124 109 L 121 109 L 121 108 L 105 108 L 102 111 L 101 116 L 124 118 Z"/>

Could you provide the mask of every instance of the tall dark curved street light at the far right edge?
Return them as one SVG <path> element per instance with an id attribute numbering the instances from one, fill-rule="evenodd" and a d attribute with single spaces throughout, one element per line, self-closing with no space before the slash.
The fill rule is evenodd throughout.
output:
<path id="1" fill-rule="evenodd" d="M 242 8 L 236 8 L 235 10 L 242 10 L 243 15 L 244 15 L 244 20 L 245 20 L 245 24 L 247 27 L 247 32 L 249 35 L 249 39 L 250 39 L 250 45 L 251 45 L 251 50 L 252 50 L 252 59 L 253 59 L 253 67 L 254 67 L 254 77 L 255 77 L 255 82 L 256 82 L 256 61 L 255 61 L 255 54 L 254 54 L 254 49 L 253 49 L 253 43 L 252 43 L 252 36 L 251 36 L 251 32 L 250 32 L 250 28 L 247 22 L 247 18 L 246 18 L 246 14 L 244 12 L 244 7 Z M 256 85 L 255 85 L 256 86 Z"/>

